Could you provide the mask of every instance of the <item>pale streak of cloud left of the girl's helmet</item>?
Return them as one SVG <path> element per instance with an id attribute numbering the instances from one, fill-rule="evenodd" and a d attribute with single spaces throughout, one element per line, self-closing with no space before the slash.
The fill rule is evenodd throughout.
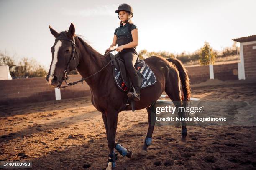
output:
<path id="1" fill-rule="evenodd" d="M 118 9 L 118 6 L 115 4 L 112 5 L 102 5 L 95 8 L 87 8 L 84 10 L 70 10 L 70 9 L 63 9 L 64 15 L 70 15 L 70 16 L 82 16 L 82 17 L 88 17 L 88 16 L 116 16 L 115 10 Z"/>

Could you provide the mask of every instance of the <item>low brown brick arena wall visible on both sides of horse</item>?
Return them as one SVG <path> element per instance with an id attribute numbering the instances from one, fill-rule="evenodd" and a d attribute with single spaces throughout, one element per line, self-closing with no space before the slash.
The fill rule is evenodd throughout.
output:
<path id="1" fill-rule="evenodd" d="M 209 66 L 186 67 L 190 82 L 204 82 L 210 78 Z M 238 80 L 237 63 L 214 65 L 214 77 L 219 80 Z M 81 79 L 80 75 L 70 75 L 71 81 Z M 64 84 L 62 84 L 64 85 Z M 90 95 L 90 87 L 84 82 L 61 89 L 61 99 Z M 55 100 L 54 88 L 45 77 L 0 80 L 0 105 L 15 105 L 30 102 Z"/>

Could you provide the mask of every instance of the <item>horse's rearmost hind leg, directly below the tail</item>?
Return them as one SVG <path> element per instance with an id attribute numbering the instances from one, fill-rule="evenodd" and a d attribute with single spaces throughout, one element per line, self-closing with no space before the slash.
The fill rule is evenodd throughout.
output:
<path id="1" fill-rule="evenodd" d="M 172 82 L 170 81 L 172 80 Z M 179 108 L 182 107 L 182 99 L 181 99 L 181 91 L 179 88 L 179 82 L 177 81 L 178 78 L 170 77 L 168 81 L 166 81 L 165 85 L 165 92 L 169 96 L 169 98 L 172 100 L 175 107 Z M 179 117 L 186 117 L 184 109 L 182 111 L 178 112 Z M 182 141 L 186 141 L 187 136 L 187 128 L 186 128 L 186 122 L 181 121 L 182 123 Z"/>

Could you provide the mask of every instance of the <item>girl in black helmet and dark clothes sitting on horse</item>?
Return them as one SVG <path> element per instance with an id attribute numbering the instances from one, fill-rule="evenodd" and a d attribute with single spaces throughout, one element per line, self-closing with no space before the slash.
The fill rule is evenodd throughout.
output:
<path id="1" fill-rule="evenodd" d="M 133 98 L 135 101 L 139 101 L 140 87 L 134 67 L 136 60 L 138 59 L 136 51 L 136 46 L 138 45 L 138 28 L 131 22 L 133 9 L 128 4 L 121 4 L 115 13 L 118 13 L 120 26 L 115 29 L 113 42 L 106 52 L 113 50 L 116 44 L 118 44 L 116 51 L 119 52 L 120 57 L 125 61 L 125 68 L 136 92 L 135 94 L 133 91 L 128 92 L 127 96 Z"/>

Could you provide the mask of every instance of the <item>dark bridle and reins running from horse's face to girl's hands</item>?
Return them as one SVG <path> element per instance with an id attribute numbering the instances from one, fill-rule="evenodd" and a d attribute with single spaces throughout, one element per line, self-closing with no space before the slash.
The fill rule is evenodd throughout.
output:
<path id="1" fill-rule="evenodd" d="M 81 82 L 81 83 L 83 84 L 83 81 L 84 81 L 84 80 L 86 80 L 86 79 L 88 79 L 88 78 L 90 78 L 90 77 L 96 75 L 96 74 L 99 73 L 100 71 L 102 71 L 105 67 L 107 67 L 107 66 L 115 59 L 115 57 L 117 57 L 117 56 L 119 55 L 119 52 L 118 52 L 117 55 L 115 55 L 113 58 L 111 58 L 111 60 L 107 63 L 107 65 L 105 65 L 102 69 L 100 69 L 99 71 L 95 72 L 94 74 L 92 74 L 92 75 L 90 75 L 90 76 L 88 76 L 88 77 L 82 78 L 82 79 L 79 80 L 79 81 L 67 83 L 66 80 L 69 80 L 69 75 L 68 75 L 68 73 L 67 73 L 67 69 L 69 68 L 69 65 L 70 65 L 70 62 L 71 62 L 72 58 L 73 58 L 73 60 L 76 60 L 75 57 L 74 57 L 74 53 L 77 54 L 77 50 L 76 50 L 76 48 L 75 48 L 75 47 L 76 47 L 75 38 L 73 37 L 73 41 L 72 41 L 72 40 L 69 40 L 69 39 L 67 39 L 67 38 L 58 38 L 58 37 L 57 37 L 55 40 L 67 40 L 67 41 L 69 41 L 69 42 L 72 43 L 72 53 L 71 53 L 71 57 L 70 57 L 70 59 L 69 59 L 69 62 L 68 62 L 68 64 L 67 64 L 67 67 L 66 67 L 66 69 L 65 69 L 65 71 L 64 71 L 64 77 L 62 77 L 62 79 L 65 81 L 66 85 L 61 86 L 61 87 L 58 87 L 59 89 L 60 89 L 60 88 L 66 88 L 66 87 L 75 85 L 75 84 L 77 84 L 77 83 L 79 83 L 79 82 Z M 115 49 L 110 50 L 110 51 L 108 51 L 108 52 L 106 51 L 105 54 L 104 54 L 104 56 L 107 55 L 109 52 L 112 52 L 112 51 L 115 51 Z M 79 57 L 79 56 L 77 55 L 77 57 Z M 69 80 L 69 81 L 70 81 L 70 80 Z"/>

